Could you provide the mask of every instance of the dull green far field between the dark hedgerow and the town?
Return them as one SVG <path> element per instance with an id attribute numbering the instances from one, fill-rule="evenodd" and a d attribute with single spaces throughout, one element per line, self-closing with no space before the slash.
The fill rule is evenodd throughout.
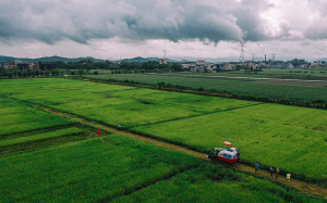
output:
<path id="1" fill-rule="evenodd" d="M 274 84 L 267 81 L 256 81 L 253 79 L 235 79 L 235 78 L 217 78 L 208 77 L 211 75 L 203 74 L 202 76 L 187 76 L 181 74 L 174 75 L 149 75 L 149 74 L 105 74 L 105 75 L 87 75 L 90 79 L 117 79 L 117 80 L 134 80 L 144 84 L 157 85 L 165 81 L 166 84 L 186 86 L 191 88 L 203 87 L 206 90 L 216 89 L 219 92 L 231 92 L 238 94 L 251 94 L 256 97 L 270 98 L 289 98 L 300 101 L 305 100 L 312 102 L 315 100 L 327 101 L 327 83 L 320 83 L 319 87 L 291 85 L 291 84 Z"/>

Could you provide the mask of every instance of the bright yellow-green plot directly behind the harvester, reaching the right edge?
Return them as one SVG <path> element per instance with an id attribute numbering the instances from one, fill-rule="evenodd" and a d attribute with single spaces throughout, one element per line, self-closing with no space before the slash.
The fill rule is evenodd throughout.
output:
<path id="1" fill-rule="evenodd" d="M 241 160 L 251 165 L 261 162 L 267 170 L 276 166 L 281 174 L 291 173 L 294 178 L 326 181 L 326 111 L 278 106 L 274 112 L 274 105 L 261 104 L 132 130 L 202 152 L 230 141 L 241 149 Z"/>

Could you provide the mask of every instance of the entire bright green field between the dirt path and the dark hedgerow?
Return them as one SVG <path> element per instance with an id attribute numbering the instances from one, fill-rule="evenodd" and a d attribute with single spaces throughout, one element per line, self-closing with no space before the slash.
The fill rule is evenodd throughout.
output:
<path id="1" fill-rule="evenodd" d="M 121 124 L 198 151 L 231 141 L 242 149 L 246 163 L 259 161 L 266 168 L 278 165 L 292 177 L 326 180 L 326 111 L 69 79 L 2 85 L 16 99 Z"/>

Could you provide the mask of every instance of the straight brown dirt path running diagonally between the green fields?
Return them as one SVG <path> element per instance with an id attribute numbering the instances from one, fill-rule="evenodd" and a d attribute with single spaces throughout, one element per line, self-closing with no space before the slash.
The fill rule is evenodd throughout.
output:
<path id="1" fill-rule="evenodd" d="M 170 144 L 170 143 L 159 141 L 159 140 L 155 140 L 155 139 L 152 139 L 152 138 L 146 138 L 146 137 L 138 136 L 138 135 L 131 134 L 131 132 L 126 132 L 126 131 L 123 131 L 123 130 L 118 130 L 116 128 L 108 127 L 108 126 L 105 126 L 105 125 L 101 125 L 101 124 L 96 124 L 96 123 L 93 123 L 93 122 L 89 122 L 89 120 L 86 120 L 86 119 L 83 119 L 83 118 L 80 118 L 80 117 L 76 117 L 76 116 L 72 116 L 72 115 L 69 115 L 69 114 L 65 114 L 65 113 L 56 112 L 56 111 L 47 109 L 47 107 L 41 107 L 41 106 L 38 106 L 38 105 L 34 105 L 34 107 L 46 111 L 46 112 L 49 112 L 49 113 L 55 114 L 55 115 L 64 116 L 64 117 L 68 117 L 70 119 L 75 119 L 75 120 L 81 122 L 83 124 L 94 126 L 98 129 L 105 129 L 105 130 L 110 131 L 110 132 L 116 134 L 116 135 L 125 136 L 125 137 L 134 138 L 134 139 L 137 139 L 137 140 L 142 140 L 142 141 L 158 145 L 160 148 L 166 148 L 166 149 L 170 149 L 170 150 L 173 150 L 173 151 L 182 152 L 182 153 L 193 155 L 195 157 L 198 157 L 198 158 L 202 158 L 202 160 L 205 160 L 205 161 L 208 161 L 208 162 L 217 162 L 217 161 L 209 160 L 206 156 L 206 154 L 204 154 L 204 153 L 196 152 L 196 151 L 193 151 L 193 150 L 189 150 L 186 148 Z M 255 174 L 254 173 L 254 167 L 251 167 L 251 166 L 247 166 L 247 165 L 244 165 L 244 164 L 241 164 L 241 163 L 234 163 L 233 165 L 226 165 L 226 166 L 234 168 L 234 169 L 240 170 L 240 172 L 247 173 L 247 174 L 253 175 L 253 176 L 268 177 L 268 178 L 270 178 L 271 181 L 289 186 L 291 188 L 294 188 L 294 189 L 296 189 L 301 192 L 307 193 L 310 195 L 319 195 L 319 196 L 325 198 L 325 200 L 327 200 L 327 188 L 325 188 L 323 186 L 313 185 L 313 183 L 308 183 L 308 182 L 304 182 L 304 181 L 300 181 L 300 180 L 295 180 L 295 179 L 291 179 L 289 181 L 283 176 L 279 176 L 278 180 L 276 180 L 275 176 L 270 177 L 269 172 L 259 170 L 257 174 Z"/>

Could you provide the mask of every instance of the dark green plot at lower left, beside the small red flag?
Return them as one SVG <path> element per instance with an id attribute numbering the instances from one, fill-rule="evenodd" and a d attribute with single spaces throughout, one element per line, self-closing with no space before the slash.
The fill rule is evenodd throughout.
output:
<path id="1" fill-rule="evenodd" d="M 110 201 L 201 160 L 116 135 L 0 158 L 1 202 Z"/>

